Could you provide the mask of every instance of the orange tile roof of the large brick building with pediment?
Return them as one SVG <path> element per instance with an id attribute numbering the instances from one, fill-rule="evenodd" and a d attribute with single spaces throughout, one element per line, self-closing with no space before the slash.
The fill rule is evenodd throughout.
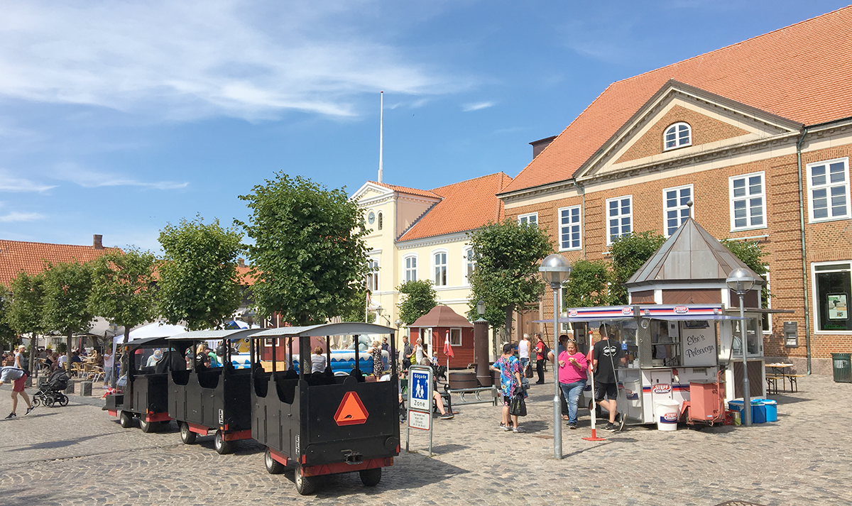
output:
<path id="1" fill-rule="evenodd" d="M 669 79 L 803 124 L 852 117 L 852 7 L 610 84 L 504 192 L 570 179 Z"/>

